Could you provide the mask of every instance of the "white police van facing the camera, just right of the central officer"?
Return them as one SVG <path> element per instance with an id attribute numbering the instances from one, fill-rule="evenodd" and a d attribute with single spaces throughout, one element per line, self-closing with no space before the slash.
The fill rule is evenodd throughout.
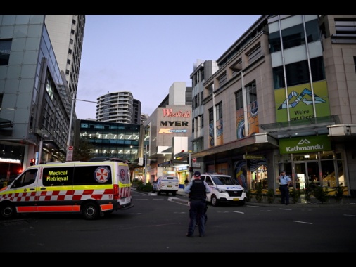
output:
<path id="1" fill-rule="evenodd" d="M 201 174 L 201 179 L 210 186 L 206 200 L 217 206 L 219 203 L 236 203 L 242 206 L 247 201 L 245 189 L 231 176 L 225 174 Z"/>

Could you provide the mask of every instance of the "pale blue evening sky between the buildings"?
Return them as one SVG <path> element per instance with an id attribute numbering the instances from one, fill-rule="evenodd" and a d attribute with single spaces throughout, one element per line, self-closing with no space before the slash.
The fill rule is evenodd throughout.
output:
<path id="1" fill-rule="evenodd" d="M 130 91 L 151 115 L 174 82 L 191 86 L 197 60 L 217 60 L 260 15 L 86 15 L 75 112 Z M 88 102 L 89 101 L 89 102 Z M 95 103 L 92 103 L 95 102 Z"/>

